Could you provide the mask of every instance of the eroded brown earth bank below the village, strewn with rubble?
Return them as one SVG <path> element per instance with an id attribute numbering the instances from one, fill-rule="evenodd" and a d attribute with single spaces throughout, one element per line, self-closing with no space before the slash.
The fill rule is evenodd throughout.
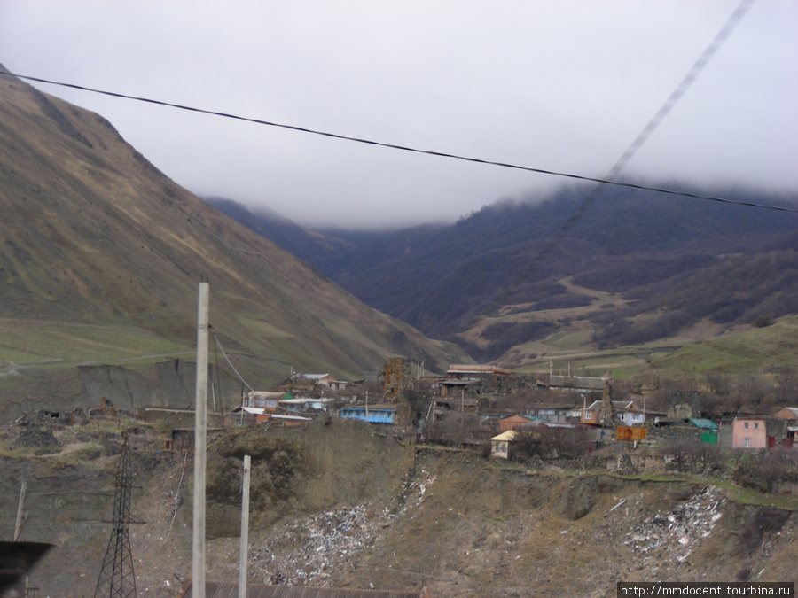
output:
<path id="1" fill-rule="evenodd" d="M 111 529 L 120 429 L 45 420 L 0 431 L 0 535 L 27 480 L 22 540 L 56 544 L 32 581 L 93 592 Z M 175 596 L 191 572 L 192 454 L 158 426 L 129 428 L 130 528 L 139 593 Z M 706 480 L 525 470 L 468 452 L 400 445 L 364 423 L 252 427 L 210 439 L 207 579 L 238 579 L 240 467 L 253 462 L 250 583 L 434 596 L 614 595 L 620 580 L 794 580 L 794 516 L 729 501 Z"/>

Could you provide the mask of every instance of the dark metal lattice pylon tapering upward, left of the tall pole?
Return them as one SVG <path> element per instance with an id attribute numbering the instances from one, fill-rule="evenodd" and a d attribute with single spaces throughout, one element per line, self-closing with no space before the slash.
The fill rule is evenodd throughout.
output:
<path id="1" fill-rule="evenodd" d="M 130 502 L 133 486 L 129 461 L 128 435 L 116 470 L 116 492 L 113 498 L 113 528 L 108 540 L 103 568 L 97 580 L 94 598 L 128 598 L 136 596 L 136 576 L 133 573 L 133 553 L 130 551 Z"/>

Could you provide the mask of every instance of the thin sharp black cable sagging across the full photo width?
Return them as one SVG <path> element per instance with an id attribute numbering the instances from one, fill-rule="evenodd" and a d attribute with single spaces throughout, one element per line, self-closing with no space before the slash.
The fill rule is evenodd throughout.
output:
<path id="1" fill-rule="evenodd" d="M 749 0 L 744 0 L 744 1 L 749 1 Z M 750 0 L 750 1 L 753 1 L 753 0 Z M 719 197 L 714 197 L 714 196 L 708 196 L 708 195 L 703 195 L 703 194 L 700 194 L 700 193 L 692 193 L 692 192 L 689 192 L 689 191 L 664 189 L 664 188 L 661 188 L 661 187 L 652 187 L 652 186 L 649 186 L 649 185 L 643 185 L 643 184 L 638 184 L 638 183 L 614 181 L 614 180 L 610 180 L 608 178 L 597 178 L 597 177 L 593 177 L 593 176 L 576 175 L 574 173 L 567 173 L 567 172 L 561 172 L 561 171 L 556 171 L 556 170 L 549 170 L 549 169 L 545 169 L 545 168 L 520 166 L 518 164 L 512 164 L 512 163 L 509 163 L 509 162 L 499 162 L 499 161 L 490 160 L 490 159 L 473 158 L 473 157 L 470 157 L 470 156 L 463 156 L 463 155 L 449 153 L 449 152 L 445 152 L 445 151 L 423 150 L 423 149 L 419 149 L 419 148 L 410 147 L 410 146 L 407 146 L 407 145 L 389 144 L 389 143 L 386 143 L 386 142 L 380 142 L 380 141 L 376 141 L 376 140 L 373 140 L 373 139 L 366 139 L 364 137 L 340 135 L 338 133 L 332 133 L 332 132 L 329 132 L 329 131 L 321 131 L 321 130 L 317 130 L 317 129 L 313 129 L 313 128 L 299 127 L 299 126 L 296 126 L 296 125 L 289 125 L 289 124 L 285 124 L 285 123 L 274 122 L 274 121 L 271 121 L 271 120 L 255 119 L 255 118 L 250 118 L 250 117 L 246 117 L 246 116 L 241 116 L 239 114 L 224 113 L 224 112 L 219 112 L 219 111 L 215 111 L 215 110 L 206 110 L 206 109 L 203 109 L 203 108 L 198 108 L 196 106 L 175 104 L 175 103 L 172 103 L 172 102 L 166 102 L 166 101 L 163 101 L 163 100 L 153 99 L 151 97 L 130 96 L 128 94 L 123 94 L 123 93 L 119 93 L 119 92 L 115 92 L 115 91 L 107 91 L 107 90 L 104 90 L 104 89 L 94 89 L 94 88 L 90 88 L 90 87 L 85 87 L 83 85 L 77 85 L 75 83 L 56 82 L 56 81 L 51 81 L 49 79 L 43 79 L 42 77 L 34 77 L 34 76 L 31 76 L 31 75 L 24 75 L 24 74 L 13 74 L 13 73 L 9 72 L 8 70 L 0 70 L 0 76 L 6 76 L 6 75 L 7 76 L 12 76 L 12 77 L 17 77 L 18 79 L 25 79 L 27 81 L 35 81 L 35 82 L 45 83 L 45 84 L 48 84 L 48 85 L 58 85 L 60 87 L 66 87 L 66 88 L 70 88 L 70 89 L 78 89 L 78 90 L 81 90 L 81 91 L 89 91 L 90 93 L 97 93 L 97 94 L 101 94 L 101 95 L 104 95 L 104 96 L 110 96 L 110 97 L 118 97 L 118 98 L 121 98 L 121 99 L 129 99 L 129 100 L 134 100 L 134 101 L 137 101 L 137 102 L 145 102 L 147 104 L 166 106 L 166 107 L 169 107 L 169 108 L 176 108 L 178 110 L 185 110 L 185 111 L 189 111 L 189 112 L 193 112 L 193 113 L 208 114 L 208 115 L 211 115 L 211 116 L 219 116 L 219 117 L 222 117 L 222 118 L 227 118 L 227 119 L 232 119 L 232 120 L 242 120 L 242 121 L 245 121 L 245 122 L 251 122 L 251 123 L 254 123 L 254 124 L 264 125 L 264 126 L 267 126 L 267 127 L 286 128 L 286 129 L 297 131 L 297 132 L 300 132 L 300 133 L 308 133 L 310 135 L 331 137 L 333 139 L 340 139 L 342 141 L 351 141 L 351 142 L 354 142 L 354 143 L 357 143 L 357 144 L 368 144 L 368 145 L 373 145 L 373 146 L 376 146 L 376 147 L 385 147 L 385 148 L 388 148 L 388 149 L 398 150 L 398 151 L 410 151 L 410 152 L 414 152 L 414 153 L 425 154 L 425 155 L 428 155 L 428 156 L 436 156 L 438 158 L 457 159 L 457 160 L 462 160 L 462 161 L 465 161 L 465 162 L 472 162 L 472 163 L 475 163 L 475 164 L 485 164 L 485 165 L 488 165 L 488 166 L 512 168 L 514 170 L 523 170 L 523 171 L 526 171 L 526 172 L 532 172 L 532 173 L 536 173 L 536 174 L 539 174 L 539 175 L 559 176 L 559 177 L 563 177 L 563 178 L 572 179 L 572 180 L 575 180 L 575 181 L 583 181 L 583 182 L 588 182 L 588 183 L 600 183 L 600 184 L 605 184 L 605 185 L 615 185 L 615 186 L 620 186 L 620 187 L 627 187 L 627 188 L 630 188 L 630 189 L 653 191 L 653 192 L 657 192 L 657 193 L 664 193 L 664 194 L 667 194 L 667 195 L 676 195 L 676 196 L 685 197 L 685 198 L 716 201 L 716 202 L 720 202 L 720 203 L 724 203 L 724 204 L 734 204 L 734 205 L 738 205 L 738 206 L 751 206 L 751 207 L 758 207 L 758 208 L 763 208 L 763 209 L 779 210 L 779 211 L 783 211 L 783 212 L 798 213 L 798 208 L 792 208 L 792 207 L 788 207 L 788 206 L 771 206 L 771 205 L 766 205 L 766 204 L 758 204 L 758 203 L 751 202 L 751 201 L 740 201 L 740 200 L 735 200 L 735 199 L 730 199 L 730 198 L 719 198 Z M 664 117 L 664 114 L 662 115 L 662 117 Z"/>

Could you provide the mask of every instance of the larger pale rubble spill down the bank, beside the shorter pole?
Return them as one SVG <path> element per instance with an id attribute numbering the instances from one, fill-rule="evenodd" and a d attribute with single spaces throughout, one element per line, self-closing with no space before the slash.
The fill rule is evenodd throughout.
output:
<path id="1" fill-rule="evenodd" d="M 408 483 L 408 502 L 419 506 L 435 480 L 426 471 L 419 481 Z M 249 552 L 249 571 L 258 583 L 273 586 L 323 585 L 332 572 L 345 566 L 357 552 L 370 546 L 379 530 L 401 516 L 382 509 L 370 515 L 363 503 L 351 508 L 331 509 L 317 516 L 284 525 L 270 540 Z"/>

